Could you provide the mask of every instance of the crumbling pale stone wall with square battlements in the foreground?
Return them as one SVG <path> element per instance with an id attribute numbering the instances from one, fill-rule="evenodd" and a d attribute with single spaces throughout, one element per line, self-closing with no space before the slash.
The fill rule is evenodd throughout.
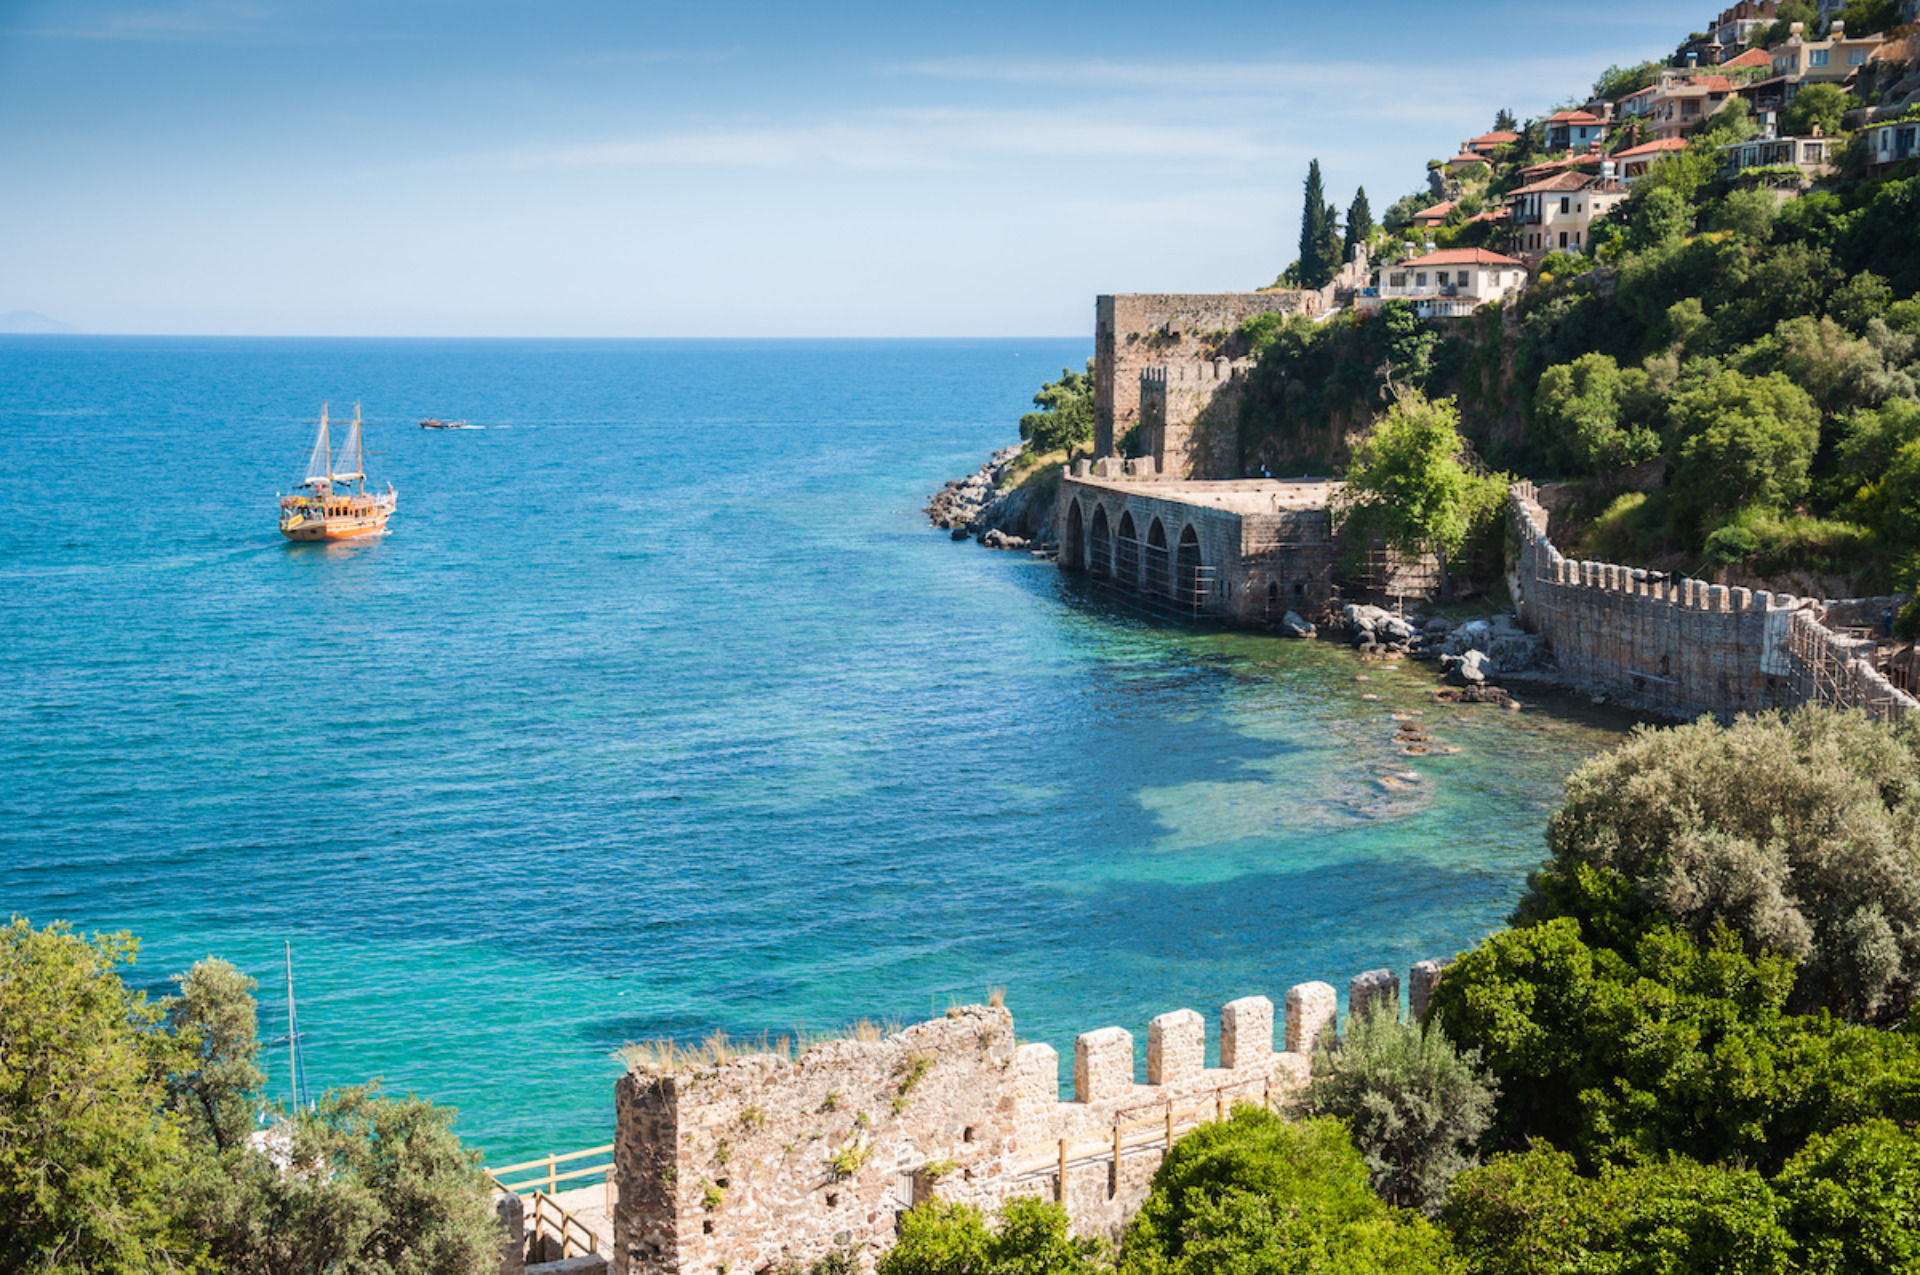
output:
<path id="1" fill-rule="evenodd" d="M 1413 966 L 1415 1012 L 1440 970 Z M 1388 970 L 1350 983 L 1350 1012 L 1377 1002 L 1400 1002 Z M 835 1252 L 870 1269 L 899 1215 L 935 1196 L 981 1208 L 1043 1196 L 1081 1235 L 1117 1239 L 1167 1146 L 1235 1102 L 1283 1104 L 1336 1014 L 1331 985 L 1290 989 L 1275 1048 L 1275 1004 L 1233 1000 L 1215 1066 L 1200 1014 L 1162 1014 L 1146 1025 L 1144 1083 L 1133 1033 L 1089 1031 L 1073 1043 L 1071 1100 L 1054 1048 L 1016 1045 L 996 1006 L 799 1058 L 630 1071 L 616 1091 L 614 1273 L 768 1271 Z"/>

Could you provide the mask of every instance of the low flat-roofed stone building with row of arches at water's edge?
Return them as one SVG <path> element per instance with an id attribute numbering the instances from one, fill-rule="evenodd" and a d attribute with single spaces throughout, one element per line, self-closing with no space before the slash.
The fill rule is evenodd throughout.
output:
<path id="1" fill-rule="evenodd" d="M 1313 614 L 1332 597 L 1336 486 L 1183 482 L 1146 459 L 1077 461 L 1056 497 L 1060 565 L 1185 614 L 1238 624 Z"/>

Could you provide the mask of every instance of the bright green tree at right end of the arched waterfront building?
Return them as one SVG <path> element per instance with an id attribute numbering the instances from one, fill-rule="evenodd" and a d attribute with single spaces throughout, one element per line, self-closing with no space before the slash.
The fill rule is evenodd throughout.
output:
<path id="1" fill-rule="evenodd" d="M 1394 553 L 1436 555 L 1444 591 L 1448 563 L 1503 495 L 1505 480 L 1482 474 L 1459 436 L 1453 399 L 1407 390 L 1354 447 L 1334 517 L 1361 543 L 1377 536 Z"/>

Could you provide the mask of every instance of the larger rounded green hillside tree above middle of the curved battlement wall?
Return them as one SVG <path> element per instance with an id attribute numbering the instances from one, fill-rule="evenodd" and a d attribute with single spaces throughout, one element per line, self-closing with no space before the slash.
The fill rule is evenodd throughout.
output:
<path id="1" fill-rule="evenodd" d="M 1720 371 L 1668 405 L 1674 501 L 1693 518 L 1786 509 L 1807 492 L 1820 411 L 1780 373 Z"/>

